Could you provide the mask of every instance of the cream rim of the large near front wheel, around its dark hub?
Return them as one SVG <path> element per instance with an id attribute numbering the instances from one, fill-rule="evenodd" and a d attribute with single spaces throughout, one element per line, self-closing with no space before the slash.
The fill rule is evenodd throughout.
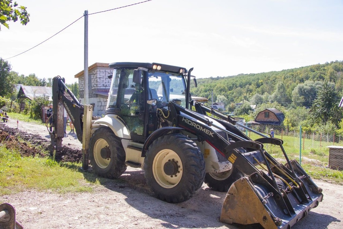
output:
<path id="1" fill-rule="evenodd" d="M 164 165 L 170 161 L 177 163 L 178 171 L 175 175 L 167 175 L 164 171 Z M 159 151 L 152 164 L 152 172 L 155 181 L 163 188 L 173 188 L 181 180 L 182 177 L 182 162 L 176 152 L 169 149 Z"/>

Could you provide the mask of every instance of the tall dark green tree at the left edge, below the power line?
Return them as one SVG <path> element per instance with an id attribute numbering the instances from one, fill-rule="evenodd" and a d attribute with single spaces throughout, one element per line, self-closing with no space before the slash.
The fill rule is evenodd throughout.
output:
<path id="1" fill-rule="evenodd" d="M 11 65 L 0 57 L 0 96 L 8 96 L 13 92 L 13 74 L 10 71 Z"/>

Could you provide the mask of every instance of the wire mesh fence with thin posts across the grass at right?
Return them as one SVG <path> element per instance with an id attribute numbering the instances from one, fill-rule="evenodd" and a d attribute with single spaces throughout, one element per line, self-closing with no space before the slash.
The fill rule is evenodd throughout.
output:
<path id="1" fill-rule="evenodd" d="M 274 138 L 281 139 L 290 159 L 296 159 L 300 164 L 303 160 L 304 163 L 335 170 L 343 169 L 343 135 L 306 131 L 300 133 L 300 127 L 293 130 L 267 125 L 248 127 L 250 129 L 240 128 L 240 130 L 252 140 L 262 138 L 261 134 L 267 137 L 273 134 Z M 282 156 L 279 146 L 265 144 L 264 149 L 273 156 Z"/>

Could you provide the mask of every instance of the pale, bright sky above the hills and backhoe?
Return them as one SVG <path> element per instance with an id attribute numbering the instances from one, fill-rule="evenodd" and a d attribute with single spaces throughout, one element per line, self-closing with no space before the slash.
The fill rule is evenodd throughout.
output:
<path id="1" fill-rule="evenodd" d="M 1 26 L 0 57 L 12 57 L 76 19 L 143 0 L 17 0 L 30 22 Z M 343 1 L 152 0 L 88 16 L 88 66 L 157 62 L 194 67 L 197 78 L 342 61 Z M 12 70 L 74 83 L 84 67 L 84 17 L 7 59 Z"/>

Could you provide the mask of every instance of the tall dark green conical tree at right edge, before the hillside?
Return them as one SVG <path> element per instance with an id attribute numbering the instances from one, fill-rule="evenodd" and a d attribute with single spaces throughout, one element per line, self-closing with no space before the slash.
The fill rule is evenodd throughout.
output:
<path id="1" fill-rule="evenodd" d="M 318 90 L 317 98 L 311 107 L 311 116 L 318 124 L 326 124 L 328 121 L 338 123 L 342 119 L 342 111 L 338 107 L 339 98 L 332 83 L 324 83 Z"/>

